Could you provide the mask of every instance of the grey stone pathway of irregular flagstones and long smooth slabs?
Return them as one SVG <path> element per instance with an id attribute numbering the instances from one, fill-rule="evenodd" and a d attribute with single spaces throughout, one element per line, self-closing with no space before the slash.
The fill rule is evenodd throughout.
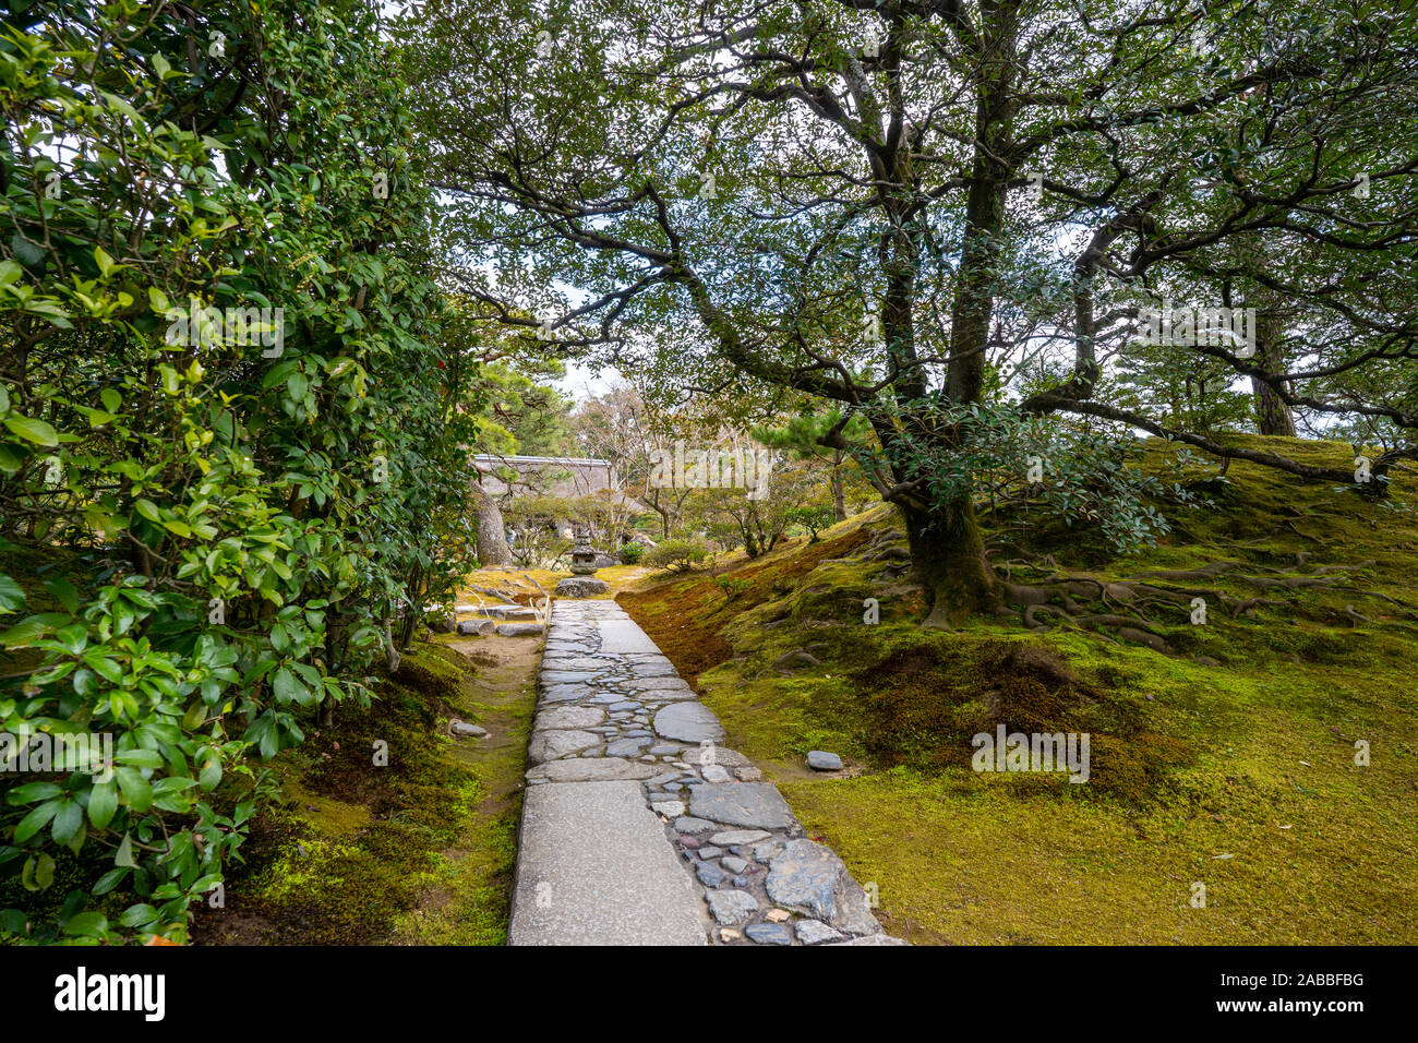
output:
<path id="1" fill-rule="evenodd" d="M 615 602 L 557 600 L 510 945 L 905 945 Z"/>

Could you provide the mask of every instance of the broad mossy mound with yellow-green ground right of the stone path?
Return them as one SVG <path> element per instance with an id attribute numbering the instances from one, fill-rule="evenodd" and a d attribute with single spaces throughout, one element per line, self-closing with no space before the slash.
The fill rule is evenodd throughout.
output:
<path id="1" fill-rule="evenodd" d="M 1231 599 L 1208 597 L 1204 626 L 1149 609 L 1176 654 L 1017 619 L 920 630 L 922 592 L 879 555 L 903 546 L 886 507 L 730 563 L 752 580 L 736 595 L 692 575 L 620 600 L 912 941 L 1418 942 L 1418 518 L 1401 507 L 1415 482 L 1398 475 L 1385 502 L 1242 463 L 1194 477 L 1211 504 L 1168 508 L 1173 534 L 1130 555 L 986 515 L 987 535 L 1012 526 L 1015 551 L 1075 578 L 1241 562 L 1204 583 L 1153 578 Z M 778 666 L 795 650 L 817 664 Z M 1088 732 L 1089 782 L 973 771 L 971 736 L 1000 724 Z M 808 749 L 847 771 L 807 771 Z"/>

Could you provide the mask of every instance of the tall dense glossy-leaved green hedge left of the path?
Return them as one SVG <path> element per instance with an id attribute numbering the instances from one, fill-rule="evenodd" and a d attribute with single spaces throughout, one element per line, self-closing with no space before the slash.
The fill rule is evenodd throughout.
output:
<path id="1" fill-rule="evenodd" d="M 113 763 L 0 775 L 0 937 L 182 941 L 462 572 L 469 368 L 366 6 L 60 10 L 0 38 L 0 756 Z"/>

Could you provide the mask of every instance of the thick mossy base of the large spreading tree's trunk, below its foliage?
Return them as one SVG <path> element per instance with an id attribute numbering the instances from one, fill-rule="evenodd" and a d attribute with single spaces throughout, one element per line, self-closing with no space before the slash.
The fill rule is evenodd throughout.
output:
<path id="1" fill-rule="evenodd" d="M 970 497 L 933 511 L 902 508 L 906 542 L 926 587 L 930 614 L 922 626 L 949 630 L 968 616 L 1000 605 L 1000 583 L 984 553 Z"/>

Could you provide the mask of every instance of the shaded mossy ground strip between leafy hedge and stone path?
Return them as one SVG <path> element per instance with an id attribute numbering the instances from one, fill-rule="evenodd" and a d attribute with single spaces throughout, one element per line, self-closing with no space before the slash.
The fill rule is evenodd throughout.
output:
<path id="1" fill-rule="evenodd" d="M 503 944 L 539 654 L 529 639 L 415 641 L 370 707 L 277 756 L 281 799 L 194 941 Z M 452 718 L 489 734 L 454 738 Z"/>

